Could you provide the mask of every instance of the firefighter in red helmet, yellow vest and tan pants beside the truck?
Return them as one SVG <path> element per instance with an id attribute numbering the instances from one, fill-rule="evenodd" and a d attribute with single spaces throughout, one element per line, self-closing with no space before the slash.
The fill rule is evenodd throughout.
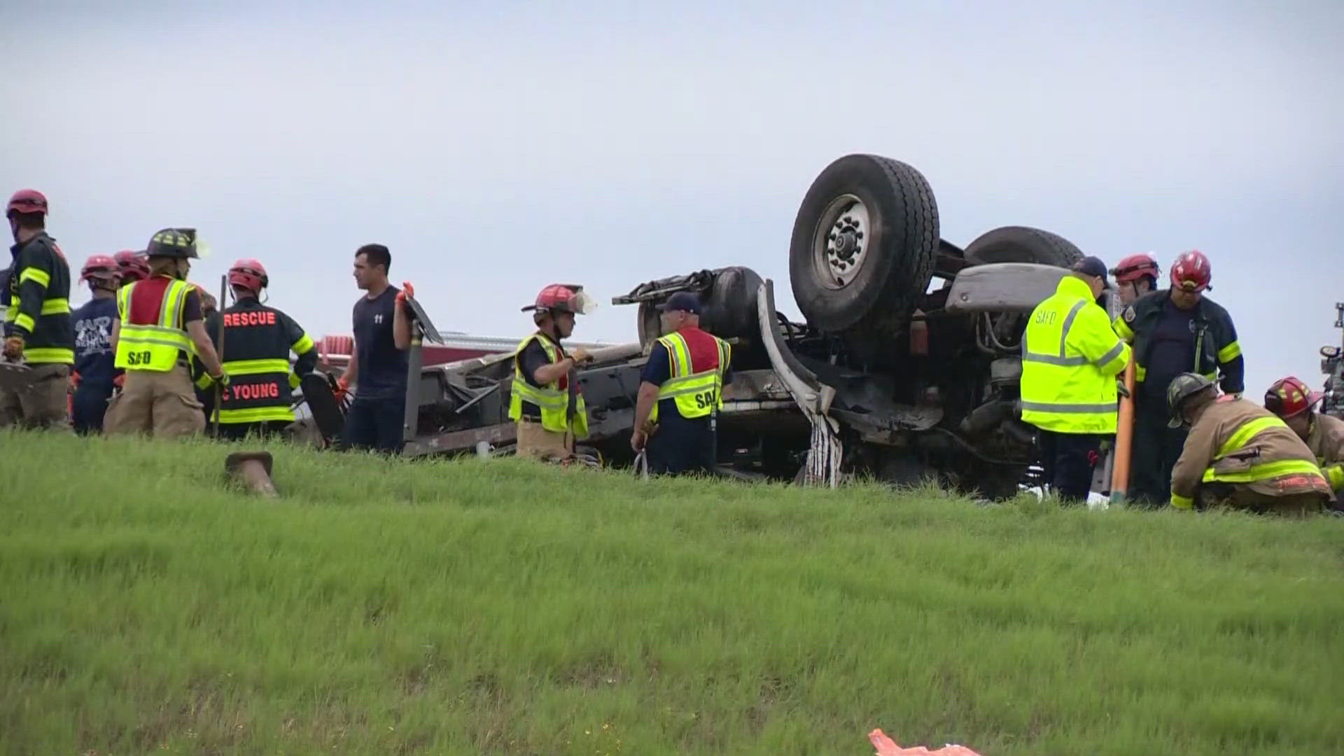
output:
<path id="1" fill-rule="evenodd" d="M 517 426 L 519 456 L 567 461 L 574 441 L 587 436 L 587 406 L 574 379 L 574 367 L 591 362 L 583 348 L 567 354 L 560 339 L 574 332 L 578 315 L 587 315 L 591 299 L 583 287 L 551 284 L 523 308 L 532 311 L 536 331 L 513 352 L 513 383 L 508 418 Z"/>

